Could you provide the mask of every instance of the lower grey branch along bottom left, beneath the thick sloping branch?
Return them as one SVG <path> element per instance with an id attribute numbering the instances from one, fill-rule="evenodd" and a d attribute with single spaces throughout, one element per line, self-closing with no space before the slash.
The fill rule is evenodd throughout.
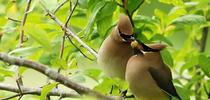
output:
<path id="1" fill-rule="evenodd" d="M 21 95 L 27 95 L 27 94 L 32 94 L 32 95 L 41 95 L 41 88 L 29 88 L 29 87 L 21 87 L 22 93 L 20 93 L 20 90 L 18 87 L 14 87 L 12 85 L 8 85 L 8 84 L 2 84 L 0 83 L 0 90 L 5 90 L 5 91 L 10 91 L 10 92 L 15 92 L 17 94 L 1 99 L 1 100 L 8 100 L 8 99 L 12 99 Z M 64 92 L 62 90 L 59 89 L 53 89 L 52 91 L 50 91 L 48 93 L 49 96 L 61 96 L 62 98 L 65 97 L 71 97 L 71 98 L 79 98 L 80 96 L 78 94 L 75 93 L 70 93 L 70 92 Z"/>

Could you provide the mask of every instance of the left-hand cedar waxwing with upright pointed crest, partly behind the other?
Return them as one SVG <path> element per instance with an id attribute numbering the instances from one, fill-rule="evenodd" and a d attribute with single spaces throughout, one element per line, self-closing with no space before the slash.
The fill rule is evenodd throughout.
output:
<path id="1" fill-rule="evenodd" d="M 120 15 L 117 26 L 98 52 L 97 62 L 109 76 L 125 79 L 126 64 L 133 55 L 130 40 L 134 40 L 133 27 L 128 16 Z"/>

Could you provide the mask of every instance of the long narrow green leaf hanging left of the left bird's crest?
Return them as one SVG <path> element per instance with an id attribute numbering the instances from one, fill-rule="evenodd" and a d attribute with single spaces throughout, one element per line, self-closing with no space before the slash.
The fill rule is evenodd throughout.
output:
<path id="1" fill-rule="evenodd" d="M 88 35 L 91 32 L 98 12 L 105 6 L 105 4 L 106 3 L 104 1 L 101 1 L 96 4 L 95 8 L 92 11 L 93 13 L 89 18 L 89 22 L 85 28 L 85 35 Z"/>

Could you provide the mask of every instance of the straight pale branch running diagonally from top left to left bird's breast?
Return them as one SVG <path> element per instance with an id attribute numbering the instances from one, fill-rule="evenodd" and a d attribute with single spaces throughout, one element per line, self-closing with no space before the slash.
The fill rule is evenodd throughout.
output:
<path id="1" fill-rule="evenodd" d="M 40 2 L 41 6 L 44 8 L 44 11 L 47 12 L 47 15 L 50 16 L 50 18 L 52 20 L 54 20 L 56 22 L 56 24 L 58 24 L 62 30 L 64 32 L 66 32 L 67 35 L 73 37 L 77 42 L 79 42 L 85 49 L 87 49 L 91 54 L 93 54 L 96 58 L 98 56 L 98 54 L 92 49 L 90 48 L 86 43 L 84 43 L 75 33 L 73 33 L 69 28 L 66 28 L 65 25 L 54 15 L 52 14 L 46 7 L 45 5 Z"/>

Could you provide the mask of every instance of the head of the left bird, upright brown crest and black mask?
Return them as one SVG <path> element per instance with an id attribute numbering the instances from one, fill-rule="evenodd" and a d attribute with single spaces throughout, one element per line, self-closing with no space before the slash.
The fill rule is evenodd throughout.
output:
<path id="1" fill-rule="evenodd" d="M 118 22 L 117 28 L 124 42 L 131 42 L 135 40 L 133 36 L 133 26 L 127 15 L 120 15 L 120 20 Z"/>

